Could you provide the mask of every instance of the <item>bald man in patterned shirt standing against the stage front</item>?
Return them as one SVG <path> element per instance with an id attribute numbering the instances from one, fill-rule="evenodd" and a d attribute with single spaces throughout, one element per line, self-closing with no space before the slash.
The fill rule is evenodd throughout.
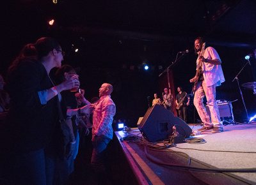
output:
<path id="1" fill-rule="evenodd" d="M 113 86 L 111 84 L 102 84 L 99 89 L 100 99 L 92 104 L 95 109 L 93 110 L 91 164 L 97 177 L 103 181 L 107 179 L 106 166 L 104 165 L 106 163 L 106 148 L 113 138 L 112 122 L 116 113 L 115 103 L 111 100 L 112 92 Z"/>

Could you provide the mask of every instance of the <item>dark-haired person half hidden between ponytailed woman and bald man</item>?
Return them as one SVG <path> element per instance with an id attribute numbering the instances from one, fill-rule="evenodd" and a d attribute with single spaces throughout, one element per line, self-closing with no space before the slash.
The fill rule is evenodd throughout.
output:
<path id="1" fill-rule="evenodd" d="M 70 77 L 78 78 L 76 74 L 76 70 L 70 65 L 63 65 L 61 68 L 58 68 L 54 74 L 54 82 L 58 85 Z M 52 176 L 52 181 L 54 184 L 66 184 L 68 182 L 68 177 L 70 174 L 74 172 L 74 159 L 76 159 L 78 147 L 79 147 L 79 133 L 77 128 L 77 116 L 74 115 L 72 117 L 67 116 L 67 109 L 75 109 L 77 108 L 77 100 L 75 96 L 75 92 L 70 91 L 62 91 L 60 94 L 60 105 L 62 109 L 63 117 L 65 118 L 65 122 L 70 128 L 72 141 L 68 145 L 67 149 L 70 154 L 68 158 L 62 158 L 58 156 L 58 139 L 53 138 L 51 142 L 51 147 L 49 147 L 49 154 L 51 154 L 51 165 L 54 166 L 55 172 L 54 176 Z M 56 135 L 58 137 L 58 135 Z"/>

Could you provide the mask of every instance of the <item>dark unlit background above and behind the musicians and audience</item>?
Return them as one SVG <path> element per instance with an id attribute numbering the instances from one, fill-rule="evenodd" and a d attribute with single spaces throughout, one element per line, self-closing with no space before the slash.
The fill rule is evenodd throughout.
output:
<path id="1" fill-rule="evenodd" d="M 217 100 L 232 103 L 236 121 L 246 114 L 234 77 L 246 54 L 256 48 L 256 1 L 8 1 L 1 16 L 1 68 L 6 75 L 10 62 L 26 43 L 41 36 L 57 38 L 67 53 L 63 63 L 80 67 L 81 87 L 90 100 L 98 96 L 104 82 L 114 85 L 115 119 L 129 126 L 145 114 L 154 93 L 167 87 L 167 66 L 177 52 L 189 50 L 172 66 L 172 91 L 178 86 L 190 93 L 189 79 L 195 75 L 194 39 L 204 36 L 206 45 L 220 54 L 226 82 L 217 88 Z M 49 26 L 47 21 L 54 18 Z M 79 52 L 74 52 L 78 47 Z M 180 56 L 180 55 L 179 55 Z M 255 59 L 239 75 L 240 85 L 255 82 Z M 150 70 L 143 70 L 143 63 Z M 242 88 L 249 117 L 254 115 L 256 96 Z M 189 122 L 194 107 L 190 108 Z M 195 117 L 198 118 L 195 112 Z"/>

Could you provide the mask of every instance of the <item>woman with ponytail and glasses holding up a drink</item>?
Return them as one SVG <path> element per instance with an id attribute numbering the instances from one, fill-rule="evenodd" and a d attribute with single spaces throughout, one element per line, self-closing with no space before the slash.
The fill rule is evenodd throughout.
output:
<path id="1" fill-rule="evenodd" d="M 22 48 L 8 68 L 6 90 L 10 94 L 8 138 L 5 140 L 11 164 L 10 184 L 52 184 L 54 170 L 45 152 L 58 128 L 58 96 L 79 87 L 79 80 L 68 78 L 54 85 L 49 73 L 60 68 L 63 50 L 54 38 L 39 38 Z M 7 141 L 8 140 L 8 141 Z M 9 142 L 10 141 L 10 142 Z M 8 145 L 7 145 L 8 143 Z M 3 146 L 2 146 L 3 147 Z M 6 160 L 8 161 L 8 160 Z M 13 167 L 15 166 L 15 168 Z"/>

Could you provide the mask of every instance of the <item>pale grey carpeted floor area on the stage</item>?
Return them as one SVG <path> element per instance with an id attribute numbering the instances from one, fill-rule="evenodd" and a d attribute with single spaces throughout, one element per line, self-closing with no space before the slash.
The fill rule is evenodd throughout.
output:
<path id="1" fill-rule="evenodd" d="M 201 127 L 193 124 L 189 126 L 193 130 Z M 256 168 L 256 123 L 228 124 L 223 128 L 222 133 L 197 135 L 204 138 L 205 144 L 182 143 L 177 144 L 177 147 L 184 149 L 172 147 L 172 150 L 186 152 L 191 158 L 217 168 Z M 232 174 L 256 184 L 256 172 Z"/>

